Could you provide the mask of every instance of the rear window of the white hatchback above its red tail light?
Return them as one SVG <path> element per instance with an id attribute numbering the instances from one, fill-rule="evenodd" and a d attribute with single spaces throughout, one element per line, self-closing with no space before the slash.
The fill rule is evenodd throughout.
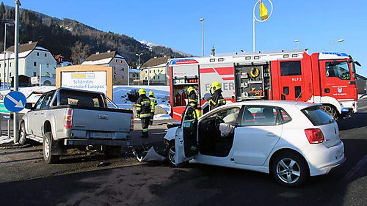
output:
<path id="1" fill-rule="evenodd" d="M 305 108 L 302 112 L 315 126 L 330 124 L 334 121 L 334 119 L 319 106 Z"/>

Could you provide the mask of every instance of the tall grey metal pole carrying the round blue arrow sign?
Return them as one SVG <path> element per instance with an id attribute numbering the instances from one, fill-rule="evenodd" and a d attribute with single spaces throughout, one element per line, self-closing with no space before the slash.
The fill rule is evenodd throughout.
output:
<path id="1" fill-rule="evenodd" d="M 19 49 L 19 0 L 15 0 L 15 30 L 14 30 L 14 91 L 18 91 L 18 49 Z M 13 124 L 14 143 L 18 142 L 18 113 L 14 112 L 14 124 Z"/>

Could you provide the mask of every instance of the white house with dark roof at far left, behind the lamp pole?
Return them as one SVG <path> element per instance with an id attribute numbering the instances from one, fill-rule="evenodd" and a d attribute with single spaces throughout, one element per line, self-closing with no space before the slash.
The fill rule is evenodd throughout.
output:
<path id="1" fill-rule="evenodd" d="M 27 77 L 39 76 L 41 65 L 41 76 L 55 76 L 56 60 L 51 52 L 37 45 L 38 42 L 29 41 L 19 44 L 18 73 Z M 4 63 L 4 52 L 0 54 L 0 78 L 4 82 L 4 66 L 6 69 L 6 81 L 10 82 L 14 76 L 14 46 L 7 48 Z"/>

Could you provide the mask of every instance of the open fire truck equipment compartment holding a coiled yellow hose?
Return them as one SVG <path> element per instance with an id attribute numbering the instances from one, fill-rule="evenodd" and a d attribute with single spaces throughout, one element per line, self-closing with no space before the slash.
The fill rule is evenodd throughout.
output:
<path id="1" fill-rule="evenodd" d="M 237 65 L 235 67 L 237 101 L 268 99 L 270 88 L 269 66 Z"/>

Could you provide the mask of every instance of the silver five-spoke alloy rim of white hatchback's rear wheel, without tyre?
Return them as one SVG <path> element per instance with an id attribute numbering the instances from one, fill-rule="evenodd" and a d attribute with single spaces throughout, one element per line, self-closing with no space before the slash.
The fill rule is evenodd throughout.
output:
<path id="1" fill-rule="evenodd" d="M 287 184 L 292 184 L 298 181 L 301 176 L 301 167 L 294 159 L 283 158 L 276 166 L 278 178 Z"/>

